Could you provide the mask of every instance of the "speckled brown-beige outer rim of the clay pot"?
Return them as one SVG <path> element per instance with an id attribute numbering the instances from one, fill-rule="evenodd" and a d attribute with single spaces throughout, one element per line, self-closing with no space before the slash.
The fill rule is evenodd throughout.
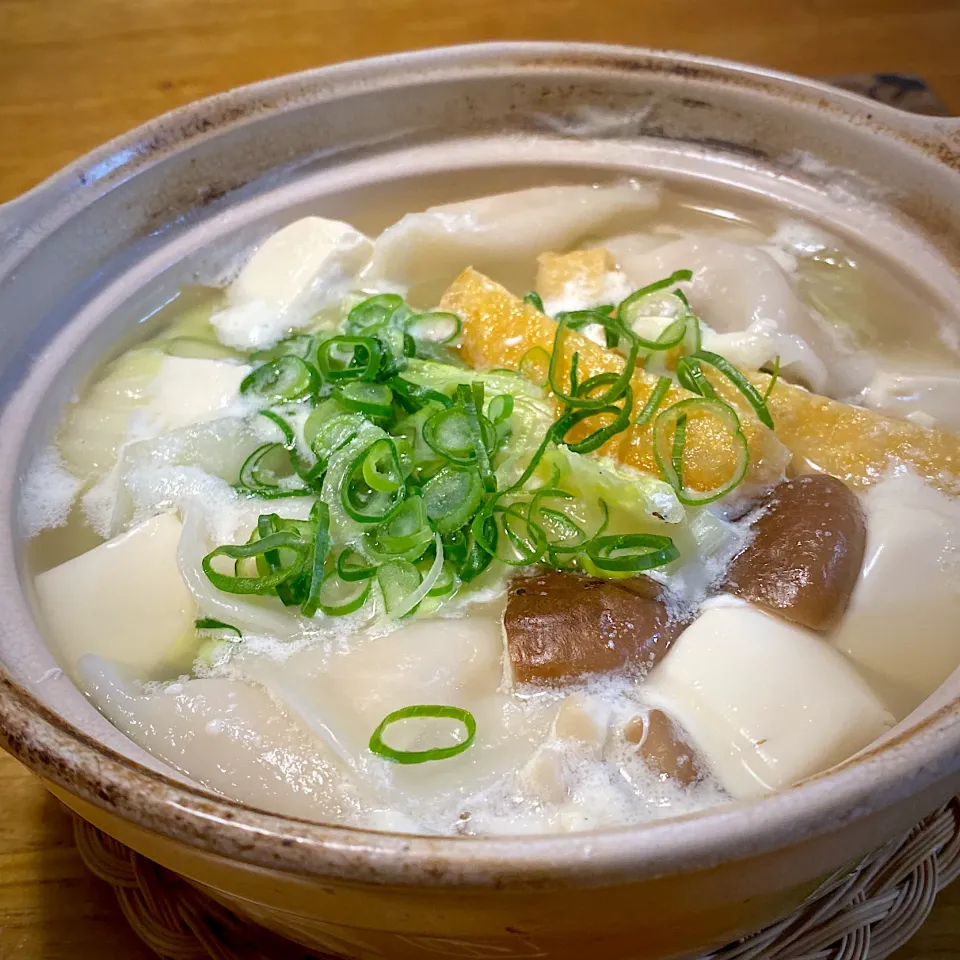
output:
<path id="1" fill-rule="evenodd" d="M 110 141 L 0 206 L 0 239 L 20 242 L 24 228 L 69 216 L 120 179 L 196 137 L 215 136 L 328 91 L 362 84 L 379 89 L 425 71 L 595 68 L 696 73 L 772 97 L 815 105 L 838 121 L 863 123 L 867 101 L 825 84 L 763 68 L 687 54 L 599 44 L 494 43 L 445 47 L 352 61 L 240 87 L 196 101 Z M 692 72 L 692 73 L 691 73 Z M 215 117 L 208 124 L 206 118 Z M 960 128 L 952 121 L 870 104 L 881 133 L 908 140 L 948 167 L 938 153 Z M 144 145 L 150 145 L 145 149 Z M 120 158 L 120 159 L 117 159 Z M 96 173 L 102 171 L 102 173 Z M 79 194 L 79 196 L 78 196 Z M 69 208 L 69 209 L 67 209 Z M 26 249 L 27 238 L 20 244 Z M 143 828 L 204 851 L 261 867 L 359 882 L 478 887 L 606 884 L 703 869 L 791 846 L 902 801 L 955 769 L 960 697 L 899 736 L 867 748 L 828 773 L 781 793 L 681 817 L 601 832 L 508 837 L 435 837 L 382 833 L 268 813 L 147 769 L 88 737 L 0 670 L 0 728 L 7 748 L 49 782 Z M 950 764 L 954 766 L 950 766 Z M 925 811 L 923 811 L 925 812 Z"/>

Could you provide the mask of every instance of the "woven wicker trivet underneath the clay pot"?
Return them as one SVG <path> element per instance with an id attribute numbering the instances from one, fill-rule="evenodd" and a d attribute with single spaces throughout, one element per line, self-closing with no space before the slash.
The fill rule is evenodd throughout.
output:
<path id="1" fill-rule="evenodd" d="M 113 887 L 130 926 L 164 960 L 332 960 L 242 920 L 86 821 L 74 830 L 84 863 Z M 828 881 L 787 919 L 704 960 L 882 960 L 920 929 L 957 876 L 960 797 Z"/>

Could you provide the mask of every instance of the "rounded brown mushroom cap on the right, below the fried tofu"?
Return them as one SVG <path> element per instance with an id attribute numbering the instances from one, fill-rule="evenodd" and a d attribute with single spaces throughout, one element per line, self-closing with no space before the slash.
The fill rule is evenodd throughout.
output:
<path id="1" fill-rule="evenodd" d="M 863 564 L 867 527 L 856 494 L 826 474 L 796 477 L 773 491 L 753 530 L 726 589 L 811 630 L 835 626 Z"/>

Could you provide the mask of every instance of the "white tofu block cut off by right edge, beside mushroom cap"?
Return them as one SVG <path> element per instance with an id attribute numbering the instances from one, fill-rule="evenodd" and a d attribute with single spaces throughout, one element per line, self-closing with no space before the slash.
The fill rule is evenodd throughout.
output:
<path id="1" fill-rule="evenodd" d="M 904 473 L 863 505 L 863 568 L 832 642 L 902 719 L 960 666 L 960 501 Z"/>

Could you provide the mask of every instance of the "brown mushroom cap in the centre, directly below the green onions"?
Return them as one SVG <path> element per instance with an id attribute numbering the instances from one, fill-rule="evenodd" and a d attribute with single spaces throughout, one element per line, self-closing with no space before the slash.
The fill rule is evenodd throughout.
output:
<path id="1" fill-rule="evenodd" d="M 503 615 L 517 683 L 564 684 L 635 666 L 649 670 L 679 636 L 646 577 L 597 580 L 551 571 L 514 580 Z"/>

